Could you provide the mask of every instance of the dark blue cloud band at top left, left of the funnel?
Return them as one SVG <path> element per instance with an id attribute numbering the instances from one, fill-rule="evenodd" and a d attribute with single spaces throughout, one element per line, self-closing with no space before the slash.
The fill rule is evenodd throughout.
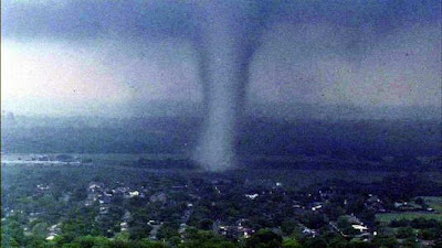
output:
<path id="1" fill-rule="evenodd" d="M 189 36 L 192 9 L 179 1 L 3 1 L 6 37 L 82 40 L 118 33 Z M 194 22 L 193 22 L 194 23 Z"/>

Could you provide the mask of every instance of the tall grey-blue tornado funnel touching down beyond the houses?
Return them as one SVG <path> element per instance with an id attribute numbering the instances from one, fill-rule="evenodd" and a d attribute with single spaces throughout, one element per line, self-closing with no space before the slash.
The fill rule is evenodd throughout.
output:
<path id="1" fill-rule="evenodd" d="M 224 171 L 239 163 L 236 133 L 255 47 L 249 4 L 210 1 L 201 8 L 203 19 L 196 47 L 204 90 L 204 121 L 193 159 L 208 171 Z"/>

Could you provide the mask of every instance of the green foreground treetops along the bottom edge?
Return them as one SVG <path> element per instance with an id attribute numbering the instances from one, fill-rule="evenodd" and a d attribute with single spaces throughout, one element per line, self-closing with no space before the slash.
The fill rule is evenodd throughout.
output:
<path id="1" fill-rule="evenodd" d="M 13 224 L 11 224 L 12 226 Z M 249 239 L 232 241 L 222 236 L 213 235 L 211 231 L 190 229 L 185 235 L 185 239 L 176 237 L 175 239 L 164 241 L 152 241 L 147 238 L 131 240 L 127 235 L 118 235 L 109 239 L 103 236 L 77 236 L 75 238 L 66 238 L 57 236 L 51 241 L 45 240 L 41 236 L 17 236 L 12 237 L 2 231 L 2 247 L 61 247 L 61 248 L 418 248 L 413 229 L 402 228 L 397 233 L 397 237 L 402 239 L 398 242 L 393 236 L 379 235 L 371 242 L 360 240 L 348 240 L 333 233 L 326 234 L 325 237 L 302 238 L 299 236 L 281 237 L 270 229 L 261 229 Z M 17 230 L 15 230 L 17 231 Z M 436 230 L 435 235 L 440 235 L 441 230 Z M 431 238 L 431 231 L 421 231 L 419 237 Z M 431 246 L 433 248 L 442 247 L 439 240 Z"/>

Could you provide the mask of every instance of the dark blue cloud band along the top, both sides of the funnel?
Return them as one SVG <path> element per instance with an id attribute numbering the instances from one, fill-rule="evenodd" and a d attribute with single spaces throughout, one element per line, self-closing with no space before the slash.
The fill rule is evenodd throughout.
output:
<path id="1" fill-rule="evenodd" d="M 135 36 L 194 36 L 198 6 L 204 1 L 2 1 L 2 35 L 91 39 L 116 32 Z M 238 1 L 221 1 L 228 6 Z M 243 1 L 251 2 L 251 1 Z M 259 25 L 291 20 L 325 21 L 355 28 L 364 36 L 369 26 L 377 35 L 401 25 L 439 22 L 439 0 L 409 1 L 256 1 L 244 19 Z M 255 32 L 255 28 L 251 34 Z"/>

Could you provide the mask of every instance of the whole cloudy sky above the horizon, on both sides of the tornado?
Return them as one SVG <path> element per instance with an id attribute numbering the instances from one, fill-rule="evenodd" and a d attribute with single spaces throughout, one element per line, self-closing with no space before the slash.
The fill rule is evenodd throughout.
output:
<path id="1" fill-rule="evenodd" d="M 248 7 L 260 37 L 249 103 L 440 107 L 441 1 Z M 1 11 L 3 110 L 127 116 L 202 100 L 198 1 L 6 0 Z"/>

